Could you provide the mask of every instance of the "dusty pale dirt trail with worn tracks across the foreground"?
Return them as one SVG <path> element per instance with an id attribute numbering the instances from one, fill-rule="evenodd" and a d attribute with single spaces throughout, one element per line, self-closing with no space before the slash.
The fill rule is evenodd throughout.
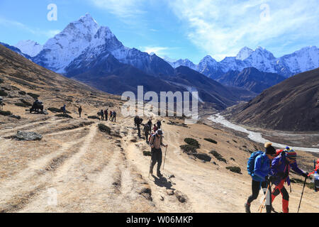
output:
<path id="1" fill-rule="evenodd" d="M 179 148 L 186 136 L 201 136 L 194 131 L 196 128 L 185 130 L 162 123 L 164 143 L 169 148 L 164 177 L 159 179 L 148 177 L 150 157 L 142 151 L 150 148 L 145 139 L 137 137 L 132 118 L 120 117 L 117 123 L 103 121 L 122 138 L 99 131 L 101 121 L 79 126 L 82 121 L 53 117 L 1 131 L 2 138 L 19 128 L 44 134 L 40 142 L 0 140 L 2 160 L 8 163 L 4 170 L 11 172 L 0 180 L 0 211 L 243 212 L 250 194 L 250 177 L 231 173 L 220 163 L 191 159 Z M 12 143 L 20 149 L 13 157 Z M 164 153 L 163 149 L 163 161 Z M 20 162 L 9 165 L 12 158 Z M 293 189 L 291 211 L 298 203 L 299 191 L 299 185 Z M 186 201 L 180 202 L 177 194 Z M 311 199 L 310 189 L 306 189 L 303 211 L 318 210 L 318 203 Z M 256 201 L 252 211 L 258 206 Z M 279 202 L 275 204 L 277 210 L 280 206 Z"/>

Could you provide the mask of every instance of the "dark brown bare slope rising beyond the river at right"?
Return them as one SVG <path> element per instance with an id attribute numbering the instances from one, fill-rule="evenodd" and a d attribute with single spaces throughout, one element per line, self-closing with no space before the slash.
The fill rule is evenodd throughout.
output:
<path id="1" fill-rule="evenodd" d="M 276 84 L 235 108 L 237 123 L 283 131 L 319 130 L 319 69 Z"/>

